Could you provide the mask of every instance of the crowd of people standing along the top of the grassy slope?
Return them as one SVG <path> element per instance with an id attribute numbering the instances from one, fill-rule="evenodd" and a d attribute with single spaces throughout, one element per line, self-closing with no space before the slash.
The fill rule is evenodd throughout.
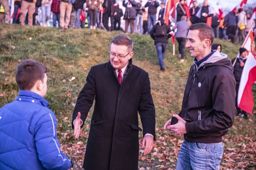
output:
<path id="1" fill-rule="evenodd" d="M 104 28 L 108 31 L 122 30 L 126 33 L 130 28 L 131 33 L 150 34 L 157 20 L 163 19 L 165 11 L 165 4 L 156 0 L 148 0 L 144 6 L 142 0 L 124 0 L 122 4 L 125 7 L 124 11 L 119 8 L 116 0 L 23 0 L 22 2 L 24 3 L 14 0 L 14 12 L 10 14 L 10 0 L 9 2 L 1 0 L 0 22 L 10 23 L 10 18 L 13 18 L 12 23 L 20 23 L 22 26 L 40 24 L 37 17 L 40 8 L 40 22 L 43 27 L 47 27 L 47 20 L 52 13 L 53 26 L 58 26 L 60 31 L 88 27 Z M 213 28 L 215 38 L 228 39 L 232 43 L 238 40 L 239 43 L 243 43 L 246 33 L 251 27 L 255 28 L 251 14 L 246 13 L 243 8 L 224 16 L 223 13 L 216 13 L 213 7 L 208 5 L 207 0 L 203 1 L 201 8 L 197 5 L 197 1 L 193 1 L 191 7 L 187 4 L 187 0 L 179 1 L 176 6 L 176 18 L 173 21 L 176 23 L 182 16 L 186 16 L 189 25 L 207 23 Z M 161 6 L 160 11 L 157 10 L 159 6 Z M 125 20 L 125 28 L 120 27 L 121 17 Z"/>

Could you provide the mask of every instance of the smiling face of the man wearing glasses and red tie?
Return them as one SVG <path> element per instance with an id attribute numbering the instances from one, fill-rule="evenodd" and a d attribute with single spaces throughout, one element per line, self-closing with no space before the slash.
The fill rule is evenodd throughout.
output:
<path id="1" fill-rule="evenodd" d="M 124 68 L 127 65 L 128 61 L 133 56 L 133 52 L 129 51 L 128 47 L 124 46 L 124 45 L 116 45 L 116 44 L 112 43 L 110 45 L 110 51 L 111 51 L 111 53 L 118 55 L 118 57 L 117 57 L 115 55 L 110 54 L 110 63 L 114 69 Z M 125 55 L 127 55 L 127 56 L 119 57 L 119 56 L 125 56 Z"/>

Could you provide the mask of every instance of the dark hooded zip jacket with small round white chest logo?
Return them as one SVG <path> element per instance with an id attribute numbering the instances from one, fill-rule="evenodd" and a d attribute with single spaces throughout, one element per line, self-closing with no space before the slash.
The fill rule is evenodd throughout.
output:
<path id="1" fill-rule="evenodd" d="M 202 59 L 203 60 L 203 59 Z M 191 66 L 179 116 L 186 122 L 188 142 L 218 143 L 234 121 L 236 81 L 227 55 L 214 53 Z"/>

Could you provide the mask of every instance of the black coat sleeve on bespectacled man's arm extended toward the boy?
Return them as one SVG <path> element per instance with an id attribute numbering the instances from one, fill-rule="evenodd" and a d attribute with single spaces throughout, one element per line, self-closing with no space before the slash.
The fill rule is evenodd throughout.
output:
<path id="1" fill-rule="evenodd" d="M 81 120 L 83 121 L 83 124 L 81 127 L 83 127 L 85 119 L 87 118 L 88 112 L 91 106 L 93 105 L 95 95 L 96 95 L 95 76 L 94 76 L 94 69 L 93 67 L 91 67 L 91 70 L 89 71 L 86 78 L 86 84 L 84 85 L 79 96 L 77 97 L 77 101 L 73 111 L 73 118 L 71 122 L 72 128 L 74 128 L 73 121 L 75 120 L 78 112 L 81 113 Z"/>

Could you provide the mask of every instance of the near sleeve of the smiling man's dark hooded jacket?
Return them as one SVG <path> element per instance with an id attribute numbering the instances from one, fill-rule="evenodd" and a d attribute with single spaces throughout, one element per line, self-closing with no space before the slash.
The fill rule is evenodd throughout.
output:
<path id="1" fill-rule="evenodd" d="M 228 129 L 233 125 L 236 98 L 233 73 L 221 71 L 215 75 L 210 90 L 215 113 L 206 119 L 186 123 L 187 132 L 208 134 Z"/>

